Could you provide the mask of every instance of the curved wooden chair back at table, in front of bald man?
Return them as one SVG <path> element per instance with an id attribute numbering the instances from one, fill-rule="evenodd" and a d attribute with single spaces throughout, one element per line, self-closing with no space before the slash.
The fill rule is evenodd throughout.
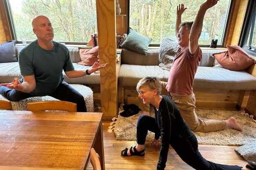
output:
<path id="1" fill-rule="evenodd" d="M 76 112 L 75 103 L 68 101 L 35 101 L 28 103 L 28 111 L 60 110 Z"/>

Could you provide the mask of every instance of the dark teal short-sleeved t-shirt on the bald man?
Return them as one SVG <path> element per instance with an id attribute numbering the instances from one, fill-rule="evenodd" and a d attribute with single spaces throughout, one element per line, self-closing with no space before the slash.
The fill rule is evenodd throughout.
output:
<path id="1" fill-rule="evenodd" d="M 36 88 L 30 93 L 36 96 L 52 94 L 62 81 L 62 70 L 75 69 L 68 48 L 54 41 L 53 50 L 42 49 L 33 41 L 21 50 L 18 62 L 22 76 L 35 75 Z"/>

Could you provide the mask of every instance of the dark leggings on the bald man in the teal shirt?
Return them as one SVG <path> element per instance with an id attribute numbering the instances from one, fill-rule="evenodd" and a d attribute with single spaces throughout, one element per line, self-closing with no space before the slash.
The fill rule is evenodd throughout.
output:
<path id="1" fill-rule="evenodd" d="M 9 89 L 8 87 L 0 86 L 0 94 L 6 97 L 9 101 L 21 101 L 29 97 L 36 97 L 36 95 L 30 93 L 24 93 L 18 90 Z M 69 101 L 77 104 L 78 112 L 87 112 L 85 100 L 82 94 L 71 87 L 68 83 L 62 81 L 56 90 L 49 94 L 60 101 Z"/>

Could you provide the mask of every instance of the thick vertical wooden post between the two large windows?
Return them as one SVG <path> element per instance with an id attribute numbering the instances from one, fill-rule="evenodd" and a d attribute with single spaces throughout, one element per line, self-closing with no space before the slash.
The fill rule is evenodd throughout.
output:
<path id="1" fill-rule="evenodd" d="M 116 19 L 115 0 L 96 0 L 100 63 L 101 107 L 104 119 L 117 114 Z"/>

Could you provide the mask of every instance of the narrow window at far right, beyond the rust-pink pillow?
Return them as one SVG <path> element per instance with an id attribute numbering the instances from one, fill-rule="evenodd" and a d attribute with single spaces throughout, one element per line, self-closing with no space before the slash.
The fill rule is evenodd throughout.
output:
<path id="1" fill-rule="evenodd" d="M 256 1 L 250 0 L 247 7 L 240 46 L 249 54 L 256 56 Z"/>

